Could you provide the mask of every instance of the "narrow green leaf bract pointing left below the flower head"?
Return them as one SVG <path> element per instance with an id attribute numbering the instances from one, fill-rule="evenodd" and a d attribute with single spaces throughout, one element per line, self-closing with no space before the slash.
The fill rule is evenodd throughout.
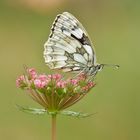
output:
<path id="1" fill-rule="evenodd" d="M 22 106 L 19 106 L 19 105 L 17 105 L 17 107 L 20 111 L 23 111 L 25 113 L 30 113 L 30 114 L 43 115 L 45 113 L 48 113 L 48 111 L 45 110 L 45 109 L 22 107 Z"/>

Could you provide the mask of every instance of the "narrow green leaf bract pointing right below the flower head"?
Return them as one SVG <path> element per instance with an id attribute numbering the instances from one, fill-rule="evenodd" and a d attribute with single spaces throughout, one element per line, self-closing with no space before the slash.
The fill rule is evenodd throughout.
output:
<path id="1" fill-rule="evenodd" d="M 89 114 L 89 113 L 82 113 L 82 112 L 74 112 L 74 111 L 68 111 L 68 110 L 64 110 L 64 111 L 60 111 L 59 112 L 60 115 L 65 115 L 65 116 L 70 116 L 70 117 L 75 117 L 75 118 L 86 118 L 89 116 L 92 116 L 94 114 Z"/>

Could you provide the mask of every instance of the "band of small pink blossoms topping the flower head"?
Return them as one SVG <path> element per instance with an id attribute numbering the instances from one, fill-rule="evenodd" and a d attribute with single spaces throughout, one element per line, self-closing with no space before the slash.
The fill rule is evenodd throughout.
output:
<path id="1" fill-rule="evenodd" d="M 81 86 L 84 83 L 84 85 L 81 87 L 81 89 L 84 91 L 88 91 L 94 86 L 93 82 L 86 81 L 86 76 L 84 74 L 79 75 L 75 79 L 62 80 L 61 74 L 38 74 L 34 68 L 27 69 L 26 74 L 19 76 L 16 80 L 17 87 L 23 87 L 23 85 L 26 85 L 28 87 L 33 86 L 37 89 L 46 88 L 48 85 L 50 85 L 50 83 L 54 83 L 56 88 L 66 88 L 69 85 Z"/>

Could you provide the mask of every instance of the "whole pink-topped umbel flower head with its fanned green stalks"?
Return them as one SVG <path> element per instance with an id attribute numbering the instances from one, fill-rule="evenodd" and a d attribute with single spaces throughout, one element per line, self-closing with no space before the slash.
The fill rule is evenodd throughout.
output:
<path id="1" fill-rule="evenodd" d="M 65 79 L 61 74 L 38 74 L 34 68 L 16 80 L 16 86 L 48 111 L 61 111 L 81 100 L 95 84 L 85 74 Z"/>

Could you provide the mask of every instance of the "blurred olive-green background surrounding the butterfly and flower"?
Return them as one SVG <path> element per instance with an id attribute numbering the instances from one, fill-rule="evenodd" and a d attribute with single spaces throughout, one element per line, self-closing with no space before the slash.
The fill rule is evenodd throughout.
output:
<path id="1" fill-rule="evenodd" d="M 58 140 L 140 139 L 139 0 L 0 0 L 0 139 L 50 140 L 50 117 L 20 112 L 34 103 L 17 89 L 23 65 L 49 73 L 43 44 L 55 16 L 74 14 L 87 29 L 98 62 L 119 64 L 97 75 L 97 86 L 70 110 L 94 113 L 86 119 L 59 116 Z"/>

